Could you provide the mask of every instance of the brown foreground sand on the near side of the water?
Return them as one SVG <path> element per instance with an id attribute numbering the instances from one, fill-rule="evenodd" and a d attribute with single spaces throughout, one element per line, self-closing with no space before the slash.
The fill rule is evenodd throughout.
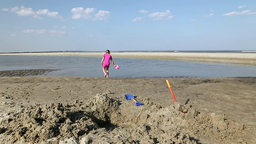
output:
<path id="1" fill-rule="evenodd" d="M 256 78 L 168 80 L 1 77 L 0 143 L 256 143 Z"/>

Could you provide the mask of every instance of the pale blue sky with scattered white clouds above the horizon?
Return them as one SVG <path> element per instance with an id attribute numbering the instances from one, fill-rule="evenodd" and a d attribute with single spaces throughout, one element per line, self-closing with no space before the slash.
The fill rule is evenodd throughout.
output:
<path id="1" fill-rule="evenodd" d="M 256 0 L 1 0 L 0 52 L 256 50 Z"/>

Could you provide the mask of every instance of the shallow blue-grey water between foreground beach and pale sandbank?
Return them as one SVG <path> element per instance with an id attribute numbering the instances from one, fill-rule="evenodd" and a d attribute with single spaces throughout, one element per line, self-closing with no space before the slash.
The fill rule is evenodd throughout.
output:
<path id="1" fill-rule="evenodd" d="M 256 77 L 256 66 L 214 64 L 175 60 L 113 58 L 120 66 L 110 66 L 110 77 L 145 78 L 218 78 Z M 44 76 L 103 77 L 101 57 L 84 56 L 0 56 L 0 71 L 60 69 Z"/>

